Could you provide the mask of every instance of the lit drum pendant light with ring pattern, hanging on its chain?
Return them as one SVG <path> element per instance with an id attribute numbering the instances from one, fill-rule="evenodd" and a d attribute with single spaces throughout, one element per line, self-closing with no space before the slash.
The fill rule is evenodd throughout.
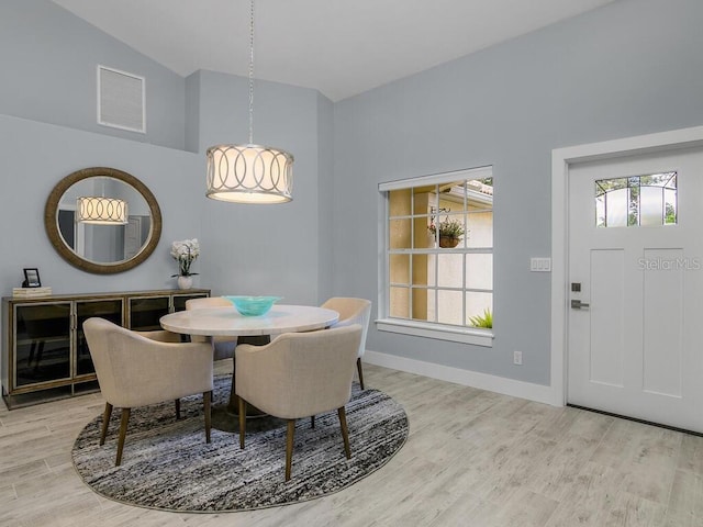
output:
<path id="1" fill-rule="evenodd" d="M 293 199 L 293 156 L 254 144 L 254 0 L 249 16 L 249 142 L 211 146 L 207 157 L 208 198 L 236 203 L 286 203 Z"/>

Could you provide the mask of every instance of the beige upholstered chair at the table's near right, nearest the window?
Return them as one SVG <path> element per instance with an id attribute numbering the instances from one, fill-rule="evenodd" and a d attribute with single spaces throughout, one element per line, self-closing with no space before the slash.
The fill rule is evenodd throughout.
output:
<path id="1" fill-rule="evenodd" d="M 354 365 L 361 326 L 312 333 L 287 333 L 266 346 L 236 349 L 236 393 L 239 396 L 239 447 L 244 448 L 246 406 L 255 405 L 288 419 L 286 481 L 290 480 L 295 419 L 337 411 L 344 451 L 352 457 L 344 406 L 352 397 Z"/>

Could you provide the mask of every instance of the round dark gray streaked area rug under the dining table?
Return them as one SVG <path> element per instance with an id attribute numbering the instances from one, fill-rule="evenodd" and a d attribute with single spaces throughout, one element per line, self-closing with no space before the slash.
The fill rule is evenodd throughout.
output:
<path id="1" fill-rule="evenodd" d="M 225 405 L 230 375 L 215 378 L 213 402 Z M 98 494 L 131 505 L 166 511 L 247 511 L 313 500 L 337 492 L 386 464 L 408 438 L 408 416 L 390 396 L 354 384 L 346 405 L 352 459 L 344 456 L 337 413 L 295 426 L 292 478 L 284 482 L 286 424 L 238 434 L 212 429 L 205 442 L 202 397 L 134 408 L 122 466 L 114 466 L 120 412 L 113 412 L 100 447 L 102 416 L 79 434 L 71 451 L 83 482 Z"/>

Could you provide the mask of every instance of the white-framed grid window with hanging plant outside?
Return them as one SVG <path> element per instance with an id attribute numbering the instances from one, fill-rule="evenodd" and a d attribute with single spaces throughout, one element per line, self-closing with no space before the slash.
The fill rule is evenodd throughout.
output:
<path id="1" fill-rule="evenodd" d="M 492 167 L 379 190 L 386 204 L 379 329 L 490 346 Z"/>

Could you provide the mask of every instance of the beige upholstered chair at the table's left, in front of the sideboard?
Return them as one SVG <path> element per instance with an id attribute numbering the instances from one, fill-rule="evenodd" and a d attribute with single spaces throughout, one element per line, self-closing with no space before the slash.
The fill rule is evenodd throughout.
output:
<path id="1" fill-rule="evenodd" d="M 213 379 L 209 343 L 175 343 L 168 332 L 132 332 L 98 317 L 83 323 L 83 334 L 105 400 L 100 445 L 105 442 L 113 406 L 122 408 L 115 466 L 122 462 L 130 411 L 136 406 L 176 401 L 179 418 L 180 397 L 202 393 L 205 440 L 210 442 Z"/>

